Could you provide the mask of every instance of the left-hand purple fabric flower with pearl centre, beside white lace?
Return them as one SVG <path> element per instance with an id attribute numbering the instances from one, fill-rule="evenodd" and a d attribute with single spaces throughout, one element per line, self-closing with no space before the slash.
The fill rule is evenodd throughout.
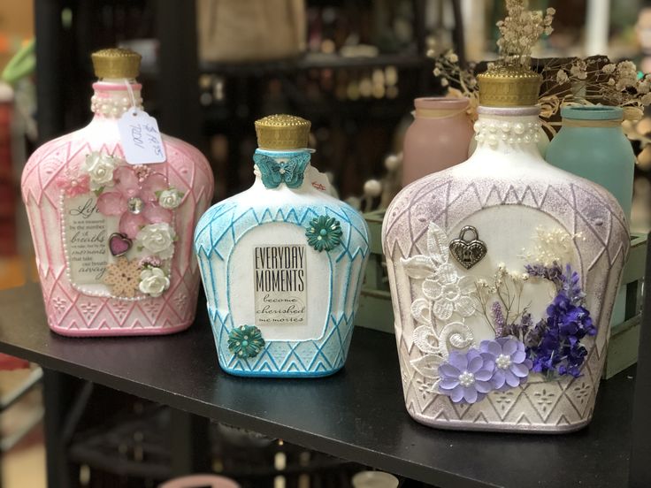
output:
<path id="1" fill-rule="evenodd" d="M 453 351 L 448 361 L 439 366 L 439 391 L 455 403 L 475 403 L 493 389 L 494 369 L 490 356 L 480 354 L 477 349 L 469 349 L 467 353 Z"/>

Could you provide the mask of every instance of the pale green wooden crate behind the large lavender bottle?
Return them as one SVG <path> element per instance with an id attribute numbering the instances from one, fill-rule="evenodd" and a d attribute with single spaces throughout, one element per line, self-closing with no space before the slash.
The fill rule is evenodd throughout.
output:
<path id="1" fill-rule="evenodd" d="M 369 257 L 359 301 L 356 324 L 377 331 L 394 333 L 394 310 L 387 278 L 387 263 L 382 253 L 384 210 L 364 215 L 371 231 Z M 626 289 L 624 322 L 613 324 L 603 377 L 615 376 L 638 361 L 638 338 L 642 309 L 642 289 L 647 258 L 647 235 L 632 233 L 631 252 L 624 267 L 621 286 Z"/>

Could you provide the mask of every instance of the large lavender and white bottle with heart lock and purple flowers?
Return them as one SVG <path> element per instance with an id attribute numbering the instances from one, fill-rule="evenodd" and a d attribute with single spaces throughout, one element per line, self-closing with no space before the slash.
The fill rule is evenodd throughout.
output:
<path id="1" fill-rule="evenodd" d="M 479 75 L 477 150 L 405 187 L 383 246 L 405 404 L 446 429 L 574 431 L 593 415 L 629 248 L 604 188 L 537 147 L 540 75 Z"/>

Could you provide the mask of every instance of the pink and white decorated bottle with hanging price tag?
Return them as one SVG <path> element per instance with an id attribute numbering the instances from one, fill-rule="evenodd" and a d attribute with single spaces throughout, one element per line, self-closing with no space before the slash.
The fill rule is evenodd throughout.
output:
<path id="1" fill-rule="evenodd" d="M 192 237 L 213 176 L 142 111 L 140 59 L 94 53 L 93 119 L 42 145 L 22 175 L 48 323 L 61 334 L 171 333 L 195 317 Z"/>

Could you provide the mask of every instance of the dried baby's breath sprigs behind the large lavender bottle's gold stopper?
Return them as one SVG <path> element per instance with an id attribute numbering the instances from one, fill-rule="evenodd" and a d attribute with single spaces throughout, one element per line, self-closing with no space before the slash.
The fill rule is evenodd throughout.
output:
<path id="1" fill-rule="evenodd" d="M 528 2 L 506 0 L 507 16 L 497 23 L 501 37 L 497 42 L 500 59 L 488 63 L 488 70 L 504 65 L 529 65 L 532 48 L 542 35 L 552 32 L 555 10 L 529 11 Z M 434 57 L 433 50 L 428 52 Z M 434 76 L 448 88 L 448 95 L 465 96 L 471 101 L 471 118 L 477 118 L 479 87 L 475 65 L 462 67 L 453 50 L 434 57 Z M 608 57 L 552 58 L 537 70 L 543 77 L 539 96 L 540 118 L 550 135 L 560 121 L 555 115 L 565 105 L 603 103 L 624 108 L 625 118 L 640 118 L 651 104 L 651 74 L 641 78 L 632 61 L 611 63 Z M 554 121 L 552 121 L 554 120 Z"/>

